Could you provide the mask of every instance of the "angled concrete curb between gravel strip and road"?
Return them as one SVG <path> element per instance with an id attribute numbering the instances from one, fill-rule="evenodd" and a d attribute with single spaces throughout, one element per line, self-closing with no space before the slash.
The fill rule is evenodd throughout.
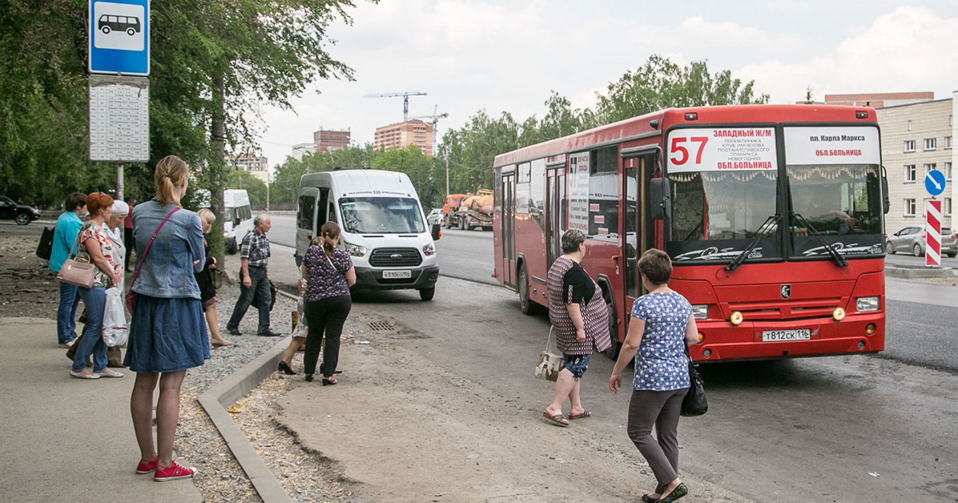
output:
<path id="1" fill-rule="evenodd" d="M 231 374 L 229 377 L 219 381 L 199 396 L 199 404 L 210 416 L 210 420 L 217 427 L 219 435 L 226 441 L 230 447 L 233 456 L 239 462 L 239 466 L 249 477 L 256 492 L 260 494 L 263 503 L 292 503 L 292 499 L 286 494 L 283 486 L 273 475 L 273 472 L 266 467 L 262 458 L 257 454 L 256 449 L 249 443 L 246 435 L 239 430 L 237 423 L 226 412 L 227 406 L 239 400 L 253 388 L 260 385 L 263 379 L 273 372 L 276 372 L 276 366 L 286 348 L 289 347 L 289 337 L 261 354 L 253 361 L 247 363 L 239 371 Z"/>

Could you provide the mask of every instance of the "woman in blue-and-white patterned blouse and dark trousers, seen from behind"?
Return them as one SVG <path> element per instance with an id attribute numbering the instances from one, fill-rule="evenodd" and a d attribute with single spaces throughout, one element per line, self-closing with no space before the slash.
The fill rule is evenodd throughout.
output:
<path id="1" fill-rule="evenodd" d="M 622 370 L 634 355 L 628 438 L 649 462 L 658 482 L 655 492 L 644 494 L 642 501 L 671 503 L 689 493 L 678 478 L 677 428 L 682 399 L 691 384 L 685 344 L 698 344 L 698 329 L 689 301 L 669 288 L 669 255 L 647 250 L 639 259 L 639 271 L 649 293 L 632 305 L 626 341 L 608 378 L 608 388 L 619 392 Z M 657 440 L 651 436 L 653 424 Z"/>

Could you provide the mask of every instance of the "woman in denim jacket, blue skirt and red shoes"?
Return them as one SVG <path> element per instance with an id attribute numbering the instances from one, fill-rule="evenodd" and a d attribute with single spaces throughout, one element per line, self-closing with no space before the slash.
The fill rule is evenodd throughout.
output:
<path id="1" fill-rule="evenodd" d="M 130 288 L 137 293 L 131 313 L 124 364 L 136 373 L 130 398 L 133 429 L 140 446 L 137 473 L 153 471 L 153 480 L 192 477 L 172 459 L 179 417 L 179 394 L 187 369 L 210 357 L 206 320 L 194 272 L 202 270 L 203 231 L 199 217 L 179 209 L 187 188 L 188 167 L 175 155 L 156 164 L 156 197 L 133 209 L 133 241 L 140 267 Z M 174 211 L 177 210 L 177 211 Z M 172 212 L 172 213 L 171 213 Z M 146 251 L 150 237 L 170 218 Z M 153 446 L 153 389 L 160 384 Z"/>

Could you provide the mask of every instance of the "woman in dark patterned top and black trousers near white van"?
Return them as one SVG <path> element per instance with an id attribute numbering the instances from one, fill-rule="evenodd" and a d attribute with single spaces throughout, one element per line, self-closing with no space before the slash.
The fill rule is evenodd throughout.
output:
<path id="1" fill-rule="evenodd" d="M 324 223 L 300 267 L 307 281 L 303 302 L 309 330 L 303 372 L 306 380 L 311 381 L 320 345 L 323 345 L 323 364 L 319 366 L 319 372 L 323 375 L 324 386 L 336 383 L 332 374 L 339 360 L 339 335 L 353 306 L 350 286 L 356 283 L 353 260 L 345 250 L 336 248 L 338 243 L 339 226 L 335 222 Z"/>

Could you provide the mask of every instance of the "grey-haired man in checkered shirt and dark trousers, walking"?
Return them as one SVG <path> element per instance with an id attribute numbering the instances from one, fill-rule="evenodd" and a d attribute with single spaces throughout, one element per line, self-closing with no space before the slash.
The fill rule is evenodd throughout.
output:
<path id="1" fill-rule="evenodd" d="M 246 233 L 239 247 L 239 277 L 242 278 L 242 286 L 239 287 L 239 299 L 233 309 L 233 316 L 230 316 L 230 321 L 226 324 L 226 330 L 231 335 L 241 335 L 239 322 L 246 315 L 246 309 L 249 309 L 255 297 L 259 300 L 256 308 L 260 310 L 257 335 L 276 337 L 282 334 L 269 330 L 272 293 L 269 291 L 269 273 L 266 271 L 266 265 L 269 263 L 269 239 L 266 238 L 266 232 L 273 226 L 273 222 L 268 215 L 261 213 L 253 220 L 253 225 L 253 230 Z"/>

